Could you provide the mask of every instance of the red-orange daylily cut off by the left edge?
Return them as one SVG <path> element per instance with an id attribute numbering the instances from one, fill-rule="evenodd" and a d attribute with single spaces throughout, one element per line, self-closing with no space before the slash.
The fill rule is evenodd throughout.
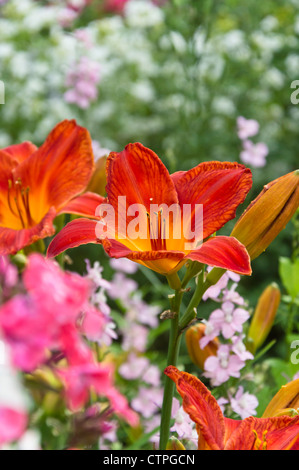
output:
<path id="1" fill-rule="evenodd" d="M 97 198 L 86 194 L 94 169 L 91 139 L 75 121 L 63 121 L 37 148 L 31 142 L 0 150 L 0 255 L 16 253 L 38 239 L 53 235 L 61 212 L 85 214 Z"/>

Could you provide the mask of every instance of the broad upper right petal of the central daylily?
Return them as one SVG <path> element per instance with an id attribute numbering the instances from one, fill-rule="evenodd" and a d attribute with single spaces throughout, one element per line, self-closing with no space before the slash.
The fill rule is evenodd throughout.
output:
<path id="1" fill-rule="evenodd" d="M 204 239 L 236 216 L 252 185 L 249 168 L 229 162 L 200 163 L 173 178 L 181 206 L 203 204 Z"/>

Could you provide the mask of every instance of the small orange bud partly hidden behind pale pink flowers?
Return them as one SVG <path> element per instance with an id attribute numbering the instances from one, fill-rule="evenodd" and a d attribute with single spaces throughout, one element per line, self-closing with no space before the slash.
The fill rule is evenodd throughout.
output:
<path id="1" fill-rule="evenodd" d="M 200 348 L 199 340 L 204 336 L 205 329 L 206 325 L 203 323 L 197 323 L 196 325 L 191 326 L 186 332 L 186 344 L 190 359 L 202 370 L 204 369 L 204 363 L 208 357 L 217 355 L 219 347 L 219 340 L 214 338 L 205 348 Z"/>

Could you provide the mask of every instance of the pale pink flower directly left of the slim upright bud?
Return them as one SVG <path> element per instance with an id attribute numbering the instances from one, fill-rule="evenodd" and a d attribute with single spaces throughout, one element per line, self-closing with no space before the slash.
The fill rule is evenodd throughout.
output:
<path id="1" fill-rule="evenodd" d="M 241 333 L 243 323 L 249 318 L 249 313 L 243 308 L 236 308 L 232 302 L 224 302 L 221 309 L 212 312 L 209 322 L 214 326 L 215 331 L 220 331 L 225 339 L 231 338 L 237 331 Z M 215 336 L 217 336 L 215 335 Z"/>

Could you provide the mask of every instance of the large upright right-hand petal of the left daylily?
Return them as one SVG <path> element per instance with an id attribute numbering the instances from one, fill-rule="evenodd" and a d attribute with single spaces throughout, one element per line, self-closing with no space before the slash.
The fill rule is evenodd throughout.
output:
<path id="1" fill-rule="evenodd" d="M 89 132 L 75 121 L 59 123 L 45 143 L 15 170 L 24 188 L 30 188 L 30 209 L 40 220 L 45 208 L 59 211 L 84 191 L 94 169 Z M 38 182 L 38 184 L 37 184 Z"/>

